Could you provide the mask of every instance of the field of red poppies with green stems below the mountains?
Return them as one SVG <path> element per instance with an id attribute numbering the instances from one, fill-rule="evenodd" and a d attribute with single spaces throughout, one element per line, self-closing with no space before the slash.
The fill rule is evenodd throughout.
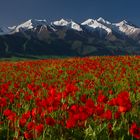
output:
<path id="1" fill-rule="evenodd" d="M 140 139 L 140 56 L 0 62 L 0 140 Z"/>

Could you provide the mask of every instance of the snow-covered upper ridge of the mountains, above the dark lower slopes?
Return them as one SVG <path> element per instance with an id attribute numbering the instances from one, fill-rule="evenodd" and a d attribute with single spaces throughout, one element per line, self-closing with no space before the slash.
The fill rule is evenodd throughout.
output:
<path id="1" fill-rule="evenodd" d="M 85 31 L 86 29 L 85 32 L 99 32 L 100 35 L 106 34 L 107 36 L 113 34 L 114 32 L 120 35 L 126 35 L 127 37 L 136 40 L 139 39 L 139 37 L 137 39 L 137 36 L 140 35 L 140 28 L 125 20 L 118 23 L 111 23 L 103 19 L 102 17 L 97 19 L 88 19 L 80 24 L 72 20 L 65 20 L 63 18 L 51 23 L 48 23 L 46 20 L 30 19 L 17 26 L 0 28 L 0 35 L 14 34 L 17 32 L 24 32 L 32 29 L 36 30 L 38 26 L 42 26 L 43 29 L 47 28 L 48 26 L 54 32 L 57 30 L 61 30 L 61 28 L 58 27 L 65 27 L 68 30 L 79 32 Z"/>

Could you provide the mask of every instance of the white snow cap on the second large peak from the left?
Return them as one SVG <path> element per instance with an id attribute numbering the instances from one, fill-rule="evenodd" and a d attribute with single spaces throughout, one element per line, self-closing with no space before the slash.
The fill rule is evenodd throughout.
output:
<path id="1" fill-rule="evenodd" d="M 79 24 L 75 23 L 74 21 L 67 21 L 64 19 L 61 19 L 59 21 L 54 21 L 51 23 L 54 26 L 61 26 L 61 27 L 68 27 L 69 29 L 77 30 L 77 31 L 82 31 L 82 28 L 80 27 Z"/>

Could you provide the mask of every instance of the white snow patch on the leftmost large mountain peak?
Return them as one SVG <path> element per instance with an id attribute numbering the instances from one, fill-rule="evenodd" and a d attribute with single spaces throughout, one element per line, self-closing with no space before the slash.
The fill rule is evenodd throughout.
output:
<path id="1" fill-rule="evenodd" d="M 46 25 L 47 21 L 46 20 L 37 20 L 37 19 L 30 19 L 20 25 L 18 25 L 15 29 L 16 32 L 19 32 L 21 29 L 22 30 L 29 30 L 29 29 L 33 29 L 36 28 L 39 25 Z"/>

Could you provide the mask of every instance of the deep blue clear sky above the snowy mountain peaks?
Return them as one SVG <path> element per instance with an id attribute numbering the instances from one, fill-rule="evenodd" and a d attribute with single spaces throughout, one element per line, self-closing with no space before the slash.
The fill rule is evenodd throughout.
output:
<path id="1" fill-rule="evenodd" d="M 140 0 L 0 0 L 0 26 L 17 25 L 28 19 L 82 22 L 97 17 L 111 22 L 126 19 L 140 26 Z"/>

